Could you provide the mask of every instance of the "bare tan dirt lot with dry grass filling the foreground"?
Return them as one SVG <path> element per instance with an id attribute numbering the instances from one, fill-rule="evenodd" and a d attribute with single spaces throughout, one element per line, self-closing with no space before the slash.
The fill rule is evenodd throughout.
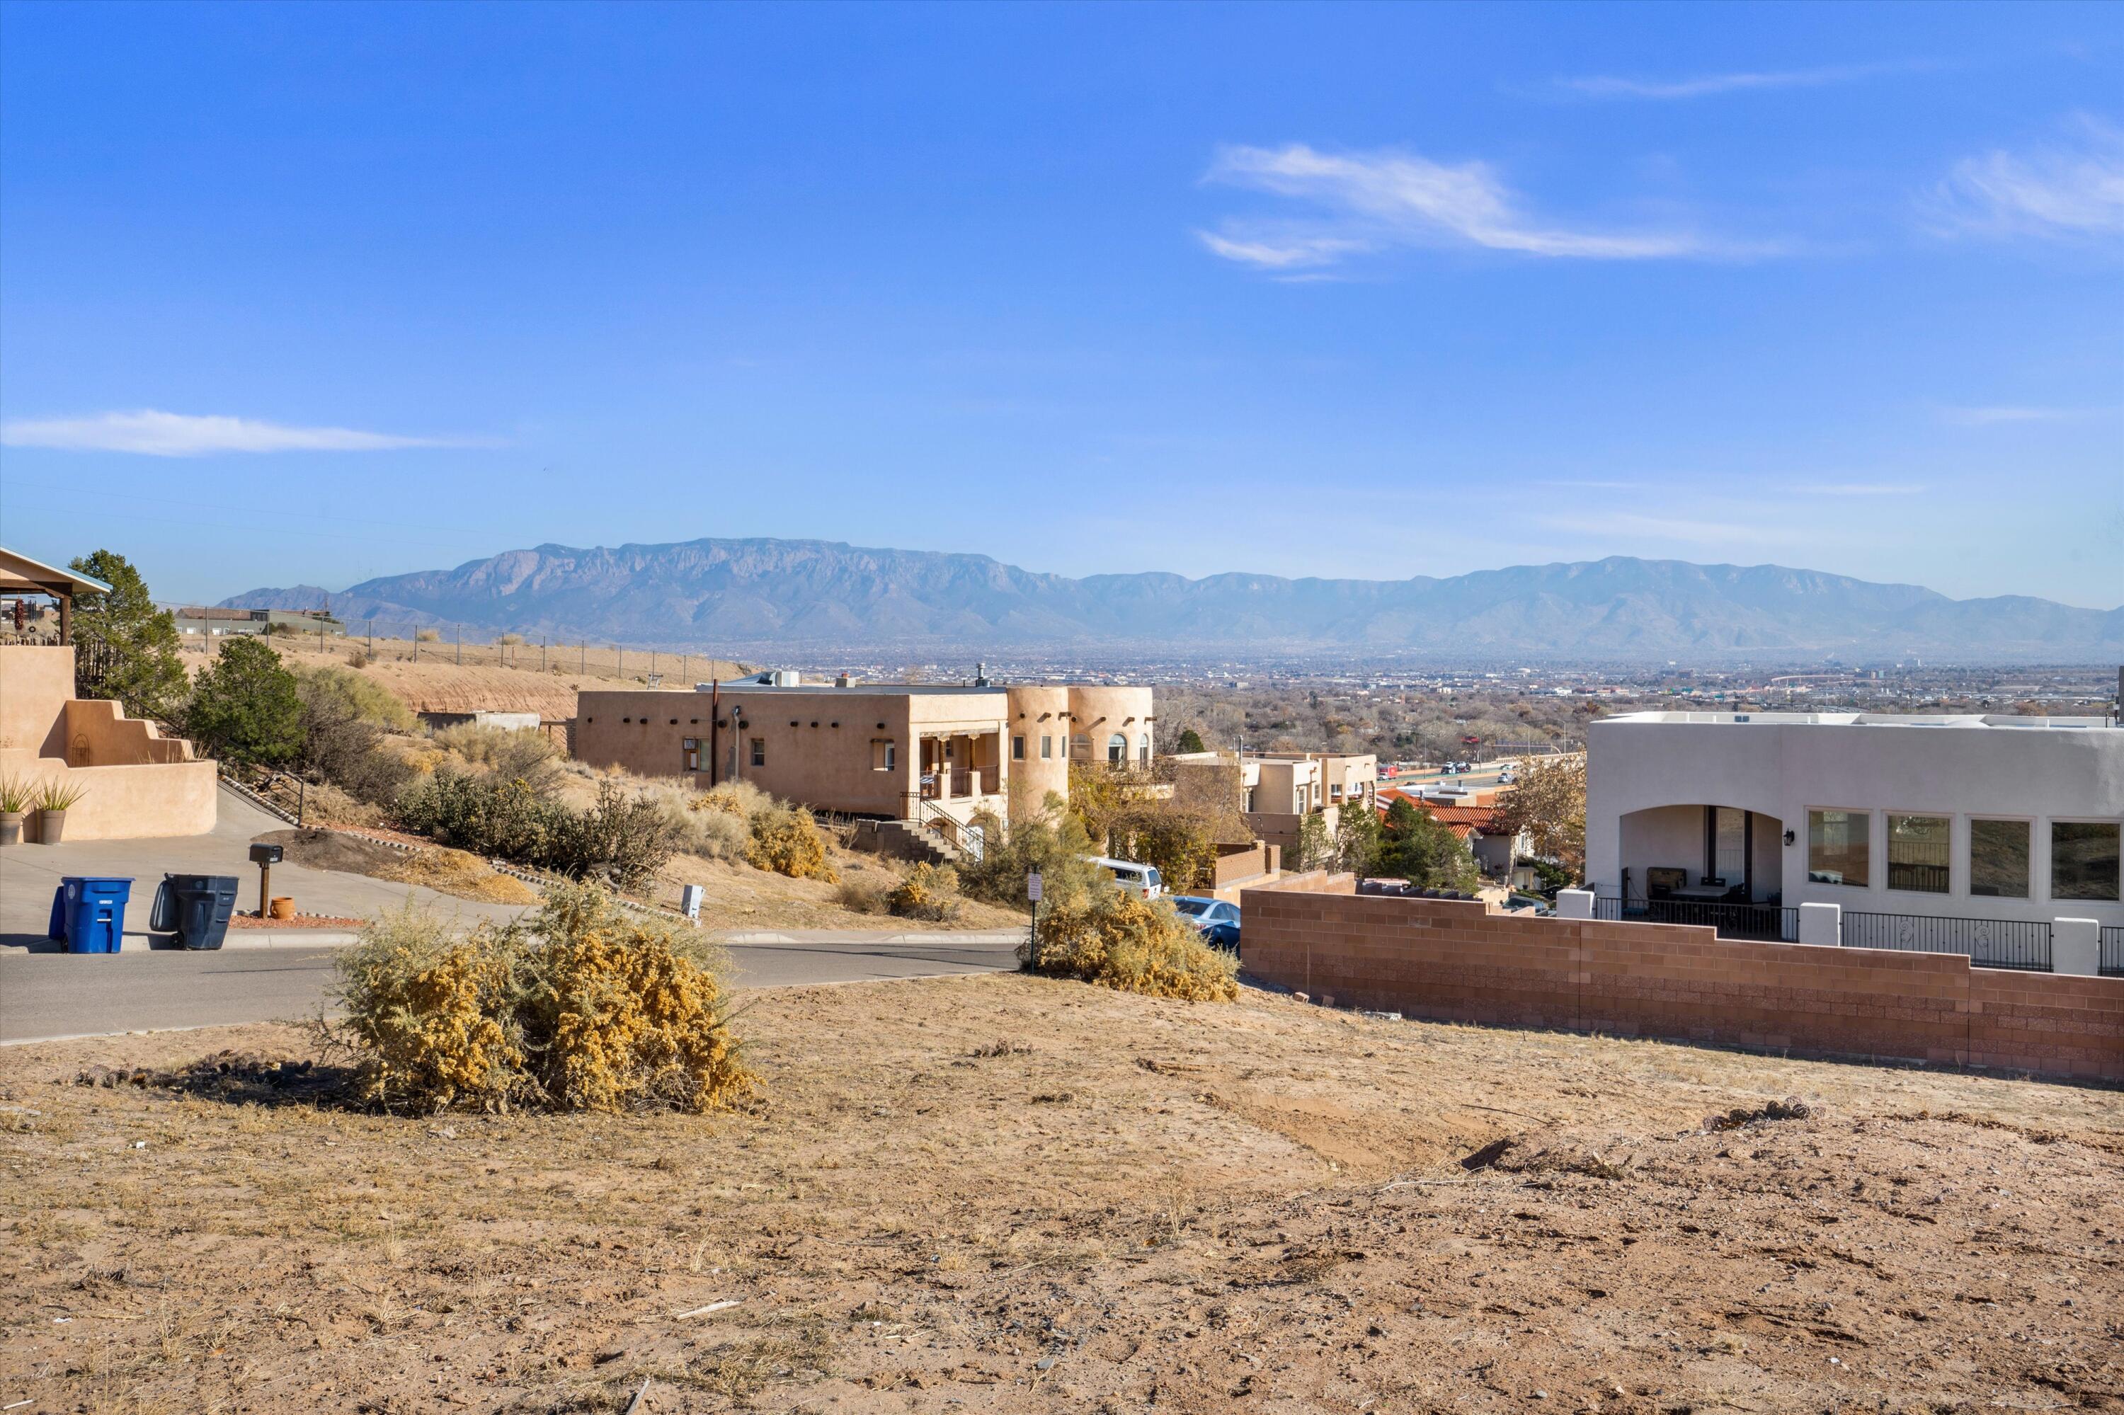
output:
<path id="1" fill-rule="evenodd" d="M 705 1120 L 0 1052 L 0 1407 L 2124 1409 L 2111 1090 L 1022 975 L 741 1020 Z"/>

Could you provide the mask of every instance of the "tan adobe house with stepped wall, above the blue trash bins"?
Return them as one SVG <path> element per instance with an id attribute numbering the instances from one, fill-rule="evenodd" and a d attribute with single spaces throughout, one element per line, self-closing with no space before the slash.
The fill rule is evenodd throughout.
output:
<path id="1" fill-rule="evenodd" d="M 108 591 L 0 548 L 0 595 L 59 601 L 57 644 L 0 644 L 0 775 L 32 790 L 53 780 L 81 788 L 66 812 L 70 841 L 204 835 L 215 829 L 215 763 L 119 703 L 74 697 L 74 595 Z"/>

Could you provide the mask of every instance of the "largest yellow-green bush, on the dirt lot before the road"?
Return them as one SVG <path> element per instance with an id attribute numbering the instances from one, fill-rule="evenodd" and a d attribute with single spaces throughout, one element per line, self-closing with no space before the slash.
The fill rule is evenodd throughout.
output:
<path id="1" fill-rule="evenodd" d="M 391 1109 L 707 1111 L 756 1084 L 712 954 L 595 886 L 455 939 L 408 905 L 338 971 L 361 1094 Z"/>

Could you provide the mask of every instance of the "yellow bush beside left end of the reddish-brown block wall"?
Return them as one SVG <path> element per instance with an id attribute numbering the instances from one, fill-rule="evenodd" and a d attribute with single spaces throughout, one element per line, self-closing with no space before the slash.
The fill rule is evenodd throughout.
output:
<path id="1" fill-rule="evenodd" d="M 1238 996 L 1238 962 L 1230 954 L 1206 945 L 1172 905 L 1119 890 L 1043 907 L 1037 971 L 1189 1003 Z"/>

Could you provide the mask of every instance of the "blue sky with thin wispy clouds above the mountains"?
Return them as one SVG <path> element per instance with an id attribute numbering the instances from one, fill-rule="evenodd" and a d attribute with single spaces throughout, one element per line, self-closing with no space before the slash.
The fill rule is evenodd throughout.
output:
<path id="1" fill-rule="evenodd" d="M 57 6 L 0 538 L 2124 603 L 2124 8 Z"/>

